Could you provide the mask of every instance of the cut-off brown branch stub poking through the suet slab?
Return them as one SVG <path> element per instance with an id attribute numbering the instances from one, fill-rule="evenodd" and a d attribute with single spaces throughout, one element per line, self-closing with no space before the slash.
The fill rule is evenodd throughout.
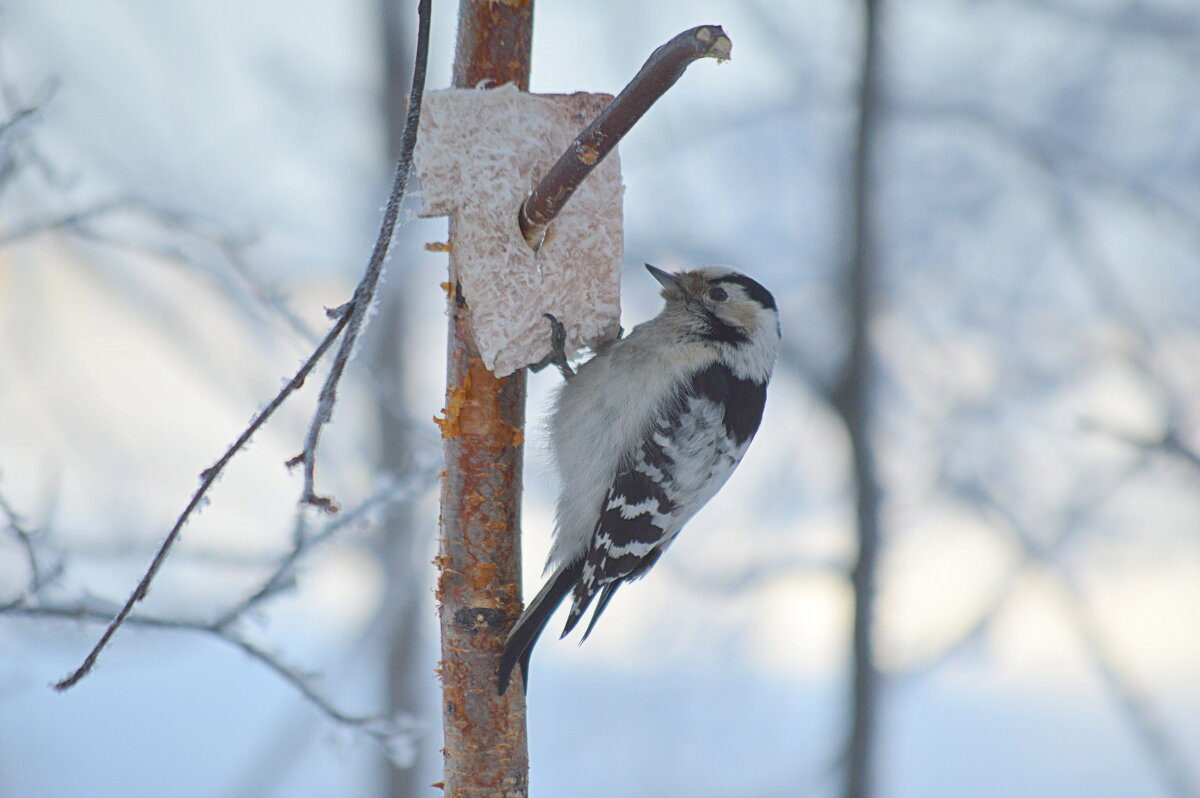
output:
<path id="1" fill-rule="evenodd" d="M 685 30 L 654 50 L 617 98 L 600 112 L 521 205 L 521 234 L 538 248 L 546 226 L 563 210 L 566 202 L 617 143 L 650 106 L 683 77 L 692 61 L 715 58 L 725 61 L 733 44 L 720 25 L 700 25 Z"/>

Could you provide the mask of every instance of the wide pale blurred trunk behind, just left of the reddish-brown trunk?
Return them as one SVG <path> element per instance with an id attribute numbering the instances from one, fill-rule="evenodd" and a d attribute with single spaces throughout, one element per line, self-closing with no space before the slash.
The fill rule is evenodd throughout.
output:
<path id="1" fill-rule="evenodd" d="M 380 101 L 386 136 L 386 166 L 380 174 L 388 174 L 400 156 L 400 139 L 408 103 L 406 94 L 412 83 L 415 10 L 416 4 L 410 0 L 379 0 L 384 72 Z M 397 239 L 403 240 L 406 235 L 410 234 L 403 228 L 397 232 Z M 403 246 L 397 246 L 397 250 L 414 251 Z M 406 480 L 413 468 L 412 430 L 403 401 L 408 377 L 409 331 L 404 326 L 404 319 L 410 316 L 406 307 L 408 292 L 404 290 L 408 280 L 409 275 L 397 269 L 380 288 L 379 316 L 372 336 L 374 346 L 365 353 L 377 383 L 373 396 L 382 444 L 379 470 L 397 481 Z M 388 712 L 392 715 L 428 718 L 432 708 L 425 688 L 432 674 L 416 672 L 425 643 L 420 622 L 422 598 L 427 593 L 424 569 L 415 565 L 418 562 L 424 564 L 420 548 L 426 536 L 418 534 L 413 524 L 412 505 L 408 503 L 394 504 L 380 523 L 383 535 L 379 556 L 386 572 L 386 589 L 379 634 L 388 658 L 384 676 L 388 680 Z M 427 792 L 427 786 L 422 790 L 420 784 L 427 775 L 427 767 L 421 758 L 424 748 L 418 744 L 416 761 L 410 768 L 397 768 L 391 760 L 384 758 L 385 794 L 389 798 L 412 798 Z"/>

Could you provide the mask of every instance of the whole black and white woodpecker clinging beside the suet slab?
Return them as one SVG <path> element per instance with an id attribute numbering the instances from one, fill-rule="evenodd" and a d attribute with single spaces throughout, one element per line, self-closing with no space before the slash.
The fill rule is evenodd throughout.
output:
<path id="1" fill-rule="evenodd" d="M 568 594 L 563 636 L 623 582 L 643 576 L 721 488 L 758 430 L 779 352 L 775 300 L 724 266 L 647 265 L 666 306 L 604 347 L 558 396 L 551 439 L 562 478 L 550 581 L 505 643 L 499 690 Z"/>

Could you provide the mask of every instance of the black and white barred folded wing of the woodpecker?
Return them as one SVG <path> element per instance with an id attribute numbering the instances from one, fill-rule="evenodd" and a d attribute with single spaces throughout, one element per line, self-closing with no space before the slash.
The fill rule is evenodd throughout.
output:
<path id="1" fill-rule="evenodd" d="M 674 536 L 721 488 L 762 421 L 766 382 L 716 362 L 680 383 L 672 407 L 629 452 L 605 497 L 575 583 L 563 636 L 600 594 L 583 638 L 622 582 L 646 574 Z"/>

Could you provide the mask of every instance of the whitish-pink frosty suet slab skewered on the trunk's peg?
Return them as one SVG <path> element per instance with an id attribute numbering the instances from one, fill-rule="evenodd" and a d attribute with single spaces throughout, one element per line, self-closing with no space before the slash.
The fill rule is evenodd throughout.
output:
<path id="1" fill-rule="evenodd" d="M 416 172 L 421 216 L 454 216 L 451 260 L 484 364 L 505 377 L 550 352 L 552 313 L 566 349 L 617 335 L 620 319 L 620 163 L 605 158 L 550 224 L 538 253 L 517 211 L 611 95 L 444 89 L 425 95 Z"/>

